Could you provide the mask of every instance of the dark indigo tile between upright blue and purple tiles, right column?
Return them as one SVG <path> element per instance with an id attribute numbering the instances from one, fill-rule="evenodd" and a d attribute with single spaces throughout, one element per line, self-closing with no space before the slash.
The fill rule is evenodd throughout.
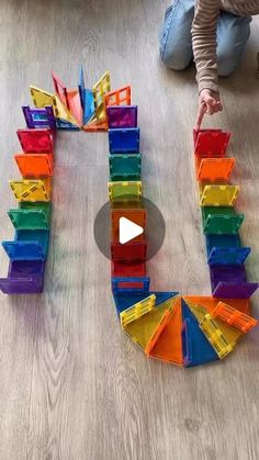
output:
<path id="1" fill-rule="evenodd" d="M 241 266 L 211 266 L 211 284 L 212 291 L 222 282 L 226 283 L 244 283 L 246 282 L 246 270 L 244 265 Z"/>

